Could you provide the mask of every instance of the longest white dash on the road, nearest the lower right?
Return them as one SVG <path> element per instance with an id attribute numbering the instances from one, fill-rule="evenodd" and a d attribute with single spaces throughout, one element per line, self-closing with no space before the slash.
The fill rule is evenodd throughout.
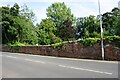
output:
<path id="1" fill-rule="evenodd" d="M 103 71 L 97 71 L 97 70 L 92 70 L 92 69 L 85 69 L 85 68 L 78 68 L 78 67 L 72 67 L 72 66 L 64 66 L 64 65 L 58 65 L 59 67 L 64 67 L 64 68 L 70 68 L 70 69 L 77 69 L 77 70 L 83 70 L 83 71 L 90 71 L 90 72 L 95 72 L 95 73 L 101 73 L 101 74 L 109 74 L 112 75 L 113 73 L 110 72 L 103 72 Z"/>

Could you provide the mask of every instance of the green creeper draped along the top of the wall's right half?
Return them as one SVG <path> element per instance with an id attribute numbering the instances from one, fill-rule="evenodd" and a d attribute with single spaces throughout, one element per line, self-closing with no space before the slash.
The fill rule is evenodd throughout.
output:
<path id="1" fill-rule="evenodd" d="M 60 42 L 60 43 L 55 43 L 55 44 L 52 44 L 52 46 L 54 48 L 61 48 L 61 47 L 64 46 L 64 44 L 72 43 L 72 42 L 73 43 L 74 42 L 79 42 L 83 46 L 94 46 L 97 43 L 100 44 L 100 40 L 101 40 L 100 38 L 85 38 L 85 39 L 82 39 L 82 40 L 64 41 L 64 42 Z M 103 38 L 103 40 L 106 43 L 113 44 L 114 46 L 120 48 L 120 37 L 119 36 L 106 36 L 105 38 Z"/>

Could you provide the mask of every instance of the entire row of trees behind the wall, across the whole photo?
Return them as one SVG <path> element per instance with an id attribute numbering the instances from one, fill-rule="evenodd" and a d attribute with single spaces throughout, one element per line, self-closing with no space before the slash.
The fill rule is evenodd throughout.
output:
<path id="1" fill-rule="evenodd" d="M 36 17 L 26 5 L 0 7 L 3 44 L 25 43 L 48 45 L 62 41 L 100 38 L 99 16 L 76 18 L 65 3 L 53 3 L 47 9 L 47 18 L 33 25 Z M 82 12 L 82 11 L 81 11 Z M 102 15 L 104 36 L 120 36 L 120 9 Z"/>

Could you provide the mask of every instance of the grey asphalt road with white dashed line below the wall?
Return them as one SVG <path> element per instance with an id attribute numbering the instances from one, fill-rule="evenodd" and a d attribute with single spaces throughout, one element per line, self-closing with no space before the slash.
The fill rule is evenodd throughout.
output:
<path id="1" fill-rule="evenodd" d="M 118 78 L 118 62 L 2 53 L 3 78 Z"/>

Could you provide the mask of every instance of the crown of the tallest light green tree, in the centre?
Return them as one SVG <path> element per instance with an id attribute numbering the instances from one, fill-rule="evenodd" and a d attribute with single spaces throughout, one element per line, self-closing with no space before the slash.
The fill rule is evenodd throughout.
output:
<path id="1" fill-rule="evenodd" d="M 47 8 L 47 16 L 56 21 L 56 27 L 60 27 L 61 22 L 67 20 L 68 18 L 73 21 L 73 14 L 71 13 L 71 9 L 68 8 L 65 3 L 56 2 Z M 59 25 L 58 25 L 58 24 Z"/>

